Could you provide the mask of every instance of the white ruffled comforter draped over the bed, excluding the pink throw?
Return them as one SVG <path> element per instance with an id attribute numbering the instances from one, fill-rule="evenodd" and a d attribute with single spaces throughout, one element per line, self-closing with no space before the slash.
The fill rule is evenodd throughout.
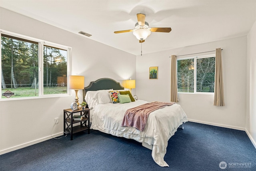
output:
<path id="1" fill-rule="evenodd" d="M 134 127 L 121 127 L 126 110 L 145 103 L 148 102 L 136 100 L 123 104 L 98 104 L 90 110 L 90 115 L 92 115 L 90 128 L 153 145 L 152 157 L 154 161 L 162 167 L 169 166 L 164 161 L 168 140 L 183 122 L 188 121 L 187 116 L 180 105 L 174 104 L 150 113 L 146 127 L 142 132 Z"/>

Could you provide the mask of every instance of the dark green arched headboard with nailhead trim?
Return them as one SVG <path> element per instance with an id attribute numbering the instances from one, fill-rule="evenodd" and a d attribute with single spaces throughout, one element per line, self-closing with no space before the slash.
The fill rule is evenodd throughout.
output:
<path id="1" fill-rule="evenodd" d="M 87 91 L 97 91 L 100 89 L 124 89 L 124 87 L 111 78 L 100 78 L 99 80 L 90 82 L 87 87 L 84 87 L 83 101 Z"/>

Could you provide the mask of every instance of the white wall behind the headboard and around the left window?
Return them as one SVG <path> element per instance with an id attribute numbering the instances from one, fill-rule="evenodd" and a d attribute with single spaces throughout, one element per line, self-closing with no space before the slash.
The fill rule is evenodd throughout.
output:
<path id="1" fill-rule="evenodd" d="M 68 21 L 67 21 L 68 22 Z M 72 74 L 85 77 L 85 86 L 99 78 L 121 82 L 136 79 L 136 56 L 54 26 L 0 8 L 0 29 L 72 47 Z M 92 35 L 93 36 L 93 35 Z M 135 92 L 136 89 L 133 89 Z M 48 97 L 0 101 L 0 154 L 46 139 L 63 131 L 63 109 L 74 99 Z M 79 91 L 82 101 L 82 90 Z"/>

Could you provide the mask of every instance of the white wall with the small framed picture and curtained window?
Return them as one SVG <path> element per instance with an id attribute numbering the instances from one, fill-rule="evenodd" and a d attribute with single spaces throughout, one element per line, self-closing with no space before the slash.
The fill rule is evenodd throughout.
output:
<path id="1" fill-rule="evenodd" d="M 136 92 L 139 99 L 170 101 L 171 55 L 194 54 L 222 48 L 225 106 L 214 106 L 213 95 L 178 93 L 188 119 L 199 123 L 245 130 L 246 36 L 136 57 Z M 198 54 L 198 56 L 215 52 Z M 185 58 L 195 55 L 181 56 Z M 158 79 L 149 80 L 150 66 L 158 66 Z"/>

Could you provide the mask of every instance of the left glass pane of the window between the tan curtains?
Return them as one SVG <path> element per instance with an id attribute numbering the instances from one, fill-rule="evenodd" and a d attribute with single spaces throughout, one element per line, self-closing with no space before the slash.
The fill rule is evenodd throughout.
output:
<path id="1" fill-rule="evenodd" d="M 178 92 L 194 93 L 194 59 L 177 60 Z"/>

